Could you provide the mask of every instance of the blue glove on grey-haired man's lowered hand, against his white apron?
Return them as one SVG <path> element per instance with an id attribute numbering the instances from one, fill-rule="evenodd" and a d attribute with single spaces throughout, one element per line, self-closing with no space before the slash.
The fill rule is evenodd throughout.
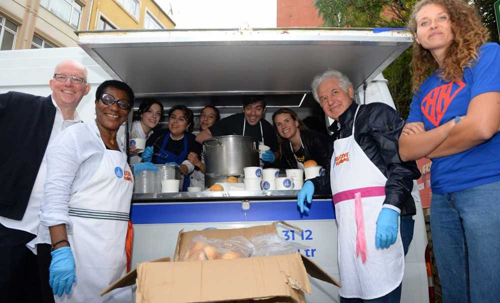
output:
<path id="1" fill-rule="evenodd" d="M 389 248 L 397 237 L 399 213 L 394 209 L 383 207 L 376 219 L 375 247 Z"/>

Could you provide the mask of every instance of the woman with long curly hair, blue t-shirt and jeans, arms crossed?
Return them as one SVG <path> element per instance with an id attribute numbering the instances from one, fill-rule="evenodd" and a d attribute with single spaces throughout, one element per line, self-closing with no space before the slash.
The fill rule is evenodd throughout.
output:
<path id="1" fill-rule="evenodd" d="M 464 0 L 422 0 L 409 28 L 413 100 L 402 160 L 432 159 L 430 228 L 443 301 L 497 301 L 500 45 Z M 430 75 L 429 75 L 430 74 Z"/>

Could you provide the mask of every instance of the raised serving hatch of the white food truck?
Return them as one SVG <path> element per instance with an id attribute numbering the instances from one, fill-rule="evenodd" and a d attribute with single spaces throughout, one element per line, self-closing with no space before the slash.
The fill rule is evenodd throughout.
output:
<path id="1" fill-rule="evenodd" d="M 326 68 L 362 88 L 411 41 L 407 31 L 372 28 L 78 32 L 80 47 L 139 98 L 296 95 L 293 104 L 276 98 L 271 106 L 298 105 L 313 76 Z"/>

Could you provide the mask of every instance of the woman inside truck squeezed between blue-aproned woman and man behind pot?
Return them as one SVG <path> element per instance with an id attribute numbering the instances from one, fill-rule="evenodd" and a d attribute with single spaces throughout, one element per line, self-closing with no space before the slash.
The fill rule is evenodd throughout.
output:
<path id="1" fill-rule="evenodd" d="M 206 105 L 199 114 L 199 126 L 202 130 L 212 126 L 213 123 L 220 120 L 220 113 L 217 107 Z M 205 159 L 194 152 L 189 152 L 187 160 L 194 165 L 194 171 L 191 173 L 191 186 L 205 188 Z"/>

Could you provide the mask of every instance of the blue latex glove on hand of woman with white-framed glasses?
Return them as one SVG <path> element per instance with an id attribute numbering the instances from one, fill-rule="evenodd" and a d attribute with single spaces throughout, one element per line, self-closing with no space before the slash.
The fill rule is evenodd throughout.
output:
<path id="1" fill-rule="evenodd" d="M 71 286 L 76 282 L 74 275 L 74 259 L 71 253 L 71 247 L 64 246 L 50 252 L 52 261 L 50 262 L 49 281 L 52 292 L 61 296 L 66 289 L 66 294 L 71 291 Z"/>

